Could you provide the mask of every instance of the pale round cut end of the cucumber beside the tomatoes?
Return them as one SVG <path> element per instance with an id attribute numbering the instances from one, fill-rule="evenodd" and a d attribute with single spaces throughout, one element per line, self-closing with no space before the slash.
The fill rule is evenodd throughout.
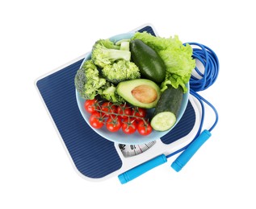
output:
<path id="1" fill-rule="evenodd" d="M 157 131 L 166 131 L 170 129 L 176 122 L 174 113 L 162 112 L 152 118 L 151 126 Z"/>

